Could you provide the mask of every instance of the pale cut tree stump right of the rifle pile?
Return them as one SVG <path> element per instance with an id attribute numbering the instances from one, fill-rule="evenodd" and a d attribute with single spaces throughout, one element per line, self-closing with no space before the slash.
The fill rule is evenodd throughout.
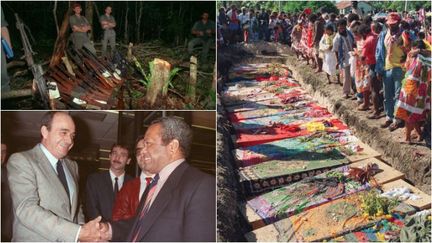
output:
<path id="1" fill-rule="evenodd" d="M 162 92 L 162 88 L 168 85 L 167 82 L 171 71 L 171 64 L 165 60 L 155 58 L 153 60 L 152 71 L 146 94 L 146 102 L 150 106 L 154 105 L 157 96 Z"/>

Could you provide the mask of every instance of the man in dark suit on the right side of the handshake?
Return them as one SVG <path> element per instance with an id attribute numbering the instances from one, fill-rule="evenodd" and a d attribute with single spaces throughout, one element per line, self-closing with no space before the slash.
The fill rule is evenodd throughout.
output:
<path id="1" fill-rule="evenodd" d="M 145 170 L 156 174 L 144 191 L 135 217 L 102 224 L 102 238 L 113 241 L 216 240 L 216 181 L 190 166 L 192 130 L 182 119 L 163 117 L 144 136 Z"/>

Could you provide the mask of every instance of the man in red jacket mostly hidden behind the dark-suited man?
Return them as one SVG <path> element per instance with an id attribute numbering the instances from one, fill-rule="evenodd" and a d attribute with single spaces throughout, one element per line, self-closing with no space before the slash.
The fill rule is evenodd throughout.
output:
<path id="1" fill-rule="evenodd" d="M 145 170 L 143 151 L 146 147 L 146 141 L 144 135 L 138 137 L 136 141 L 135 156 L 141 173 L 140 176 L 124 184 L 117 195 L 112 213 L 113 221 L 125 220 L 135 216 L 139 202 L 155 176 L 155 174 Z"/>

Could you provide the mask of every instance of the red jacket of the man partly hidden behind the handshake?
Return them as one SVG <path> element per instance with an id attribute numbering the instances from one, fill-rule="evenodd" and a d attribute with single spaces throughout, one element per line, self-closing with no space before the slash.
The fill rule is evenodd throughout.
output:
<path id="1" fill-rule="evenodd" d="M 126 182 L 118 192 L 113 207 L 113 221 L 129 219 L 135 216 L 139 204 L 140 177 Z"/>

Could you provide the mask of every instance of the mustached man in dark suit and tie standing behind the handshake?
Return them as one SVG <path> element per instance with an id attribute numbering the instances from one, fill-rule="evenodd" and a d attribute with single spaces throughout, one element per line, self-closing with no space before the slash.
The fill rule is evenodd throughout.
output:
<path id="1" fill-rule="evenodd" d="M 87 219 L 101 215 L 102 221 L 111 220 L 117 193 L 127 181 L 132 180 L 132 177 L 125 173 L 125 167 L 131 160 L 127 146 L 114 144 L 109 159 L 108 171 L 93 173 L 87 179 L 85 203 Z"/>

